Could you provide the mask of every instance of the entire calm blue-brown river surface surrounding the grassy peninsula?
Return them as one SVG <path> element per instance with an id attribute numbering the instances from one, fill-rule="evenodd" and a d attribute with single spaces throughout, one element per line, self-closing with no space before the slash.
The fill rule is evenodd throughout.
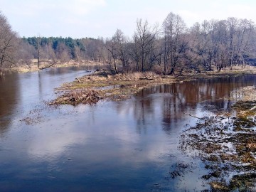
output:
<path id="1" fill-rule="evenodd" d="M 0 79 L 0 191 L 207 189 L 204 164 L 179 150 L 179 136 L 195 117 L 228 110 L 231 91 L 256 85 L 256 75 L 244 75 L 151 87 L 120 102 L 46 104 L 86 70 Z"/>

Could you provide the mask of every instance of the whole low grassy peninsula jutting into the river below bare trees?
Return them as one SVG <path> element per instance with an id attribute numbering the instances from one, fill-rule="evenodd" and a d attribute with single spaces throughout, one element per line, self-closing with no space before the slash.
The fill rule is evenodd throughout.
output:
<path id="1" fill-rule="evenodd" d="M 256 74 L 256 68 L 247 66 L 244 70 L 222 70 L 205 73 L 186 73 L 176 76 L 156 75 L 153 72 L 146 73 L 119 73 L 113 70 L 97 70 L 91 75 L 77 78 L 73 82 L 68 82 L 59 87 L 59 97 L 50 102 L 54 105 L 80 103 L 95 103 L 98 100 L 124 100 L 136 94 L 146 87 L 155 85 L 182 83 L 184 81 L 197 80 L 199 78 L 218 78 L 242 74 Z M 93 90 L 93 95 L 90 95 Z M 87 94 L 88 93 L 88 94 Z"/>

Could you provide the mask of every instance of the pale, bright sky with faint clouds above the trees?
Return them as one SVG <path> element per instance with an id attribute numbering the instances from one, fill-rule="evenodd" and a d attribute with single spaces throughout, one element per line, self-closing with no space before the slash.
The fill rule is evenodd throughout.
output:
<path id="1" fill-rule="evenodd" d="M 256 21 L 255 0 L 0 0 L 0 11 L 19 36 L 111 37 L 134 33 L 137 18 L 161 23 L 179 14 L 188 26 L 230 16 Z"/>

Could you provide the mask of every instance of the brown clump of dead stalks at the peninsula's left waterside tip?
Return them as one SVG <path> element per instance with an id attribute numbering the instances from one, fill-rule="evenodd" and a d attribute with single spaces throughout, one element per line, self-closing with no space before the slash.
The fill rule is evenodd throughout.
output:
<path id="1" fill-rule="evenodd" d="M 80 103 L 92 105 L 98 102 L 100 99 L 102 99 L 102 97 L 100 97 L 100 93 L 96 90 L 73 90 L 72 92 L 66 92 L 56 100 L 53 100 L 53 102 L 50 102 L 50 105 L 78 105 Z"/>

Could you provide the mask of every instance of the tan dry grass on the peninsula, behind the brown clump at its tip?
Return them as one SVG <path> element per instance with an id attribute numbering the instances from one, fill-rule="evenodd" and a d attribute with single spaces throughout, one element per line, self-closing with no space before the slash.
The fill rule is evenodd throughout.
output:
<path id="1" fill-rule="evenodd" d="M 244 72 L 241 72 L 242 74 Z M 97 70 L 91 75 L 85 75 L 82 78 L 77 78 L 74 82 L 65 83 L 59 87 L 59 91 L 93 89 L 101 90 L 100 97 L 105 97 L 109 100 L 123 100 L 136 94 L 146 87 L 154 85 L 171 84 L 174 82 L 196 80 L 198 78 L 215 78 L 223 75 L 238 75 L 241 73 L 189 73 L 181 75 L 178 78 L 169 75 L 157 75 L 153 72 L 146 73 L 118 73 L 114 70 L 103 69 Z"/>

